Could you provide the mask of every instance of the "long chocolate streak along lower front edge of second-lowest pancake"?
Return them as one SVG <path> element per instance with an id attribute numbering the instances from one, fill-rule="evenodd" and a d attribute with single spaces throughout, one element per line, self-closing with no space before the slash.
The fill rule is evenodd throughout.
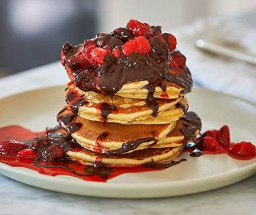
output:
<path id="1" fill-rule="evenodd" d="M 150 141 L 156 142 L 156 138 L 155 137 L 143 138 L 143 139 L 133 140 L 131 142 L 123 143 L 122 147 L 119 149 L 108 150 L 106 152 L 106 157 L 110 157 L 110 155 L 113 155 L 113 154 L 128 153 L 129 151 L 136 149 L 143 142 L 150 142 Z"/>

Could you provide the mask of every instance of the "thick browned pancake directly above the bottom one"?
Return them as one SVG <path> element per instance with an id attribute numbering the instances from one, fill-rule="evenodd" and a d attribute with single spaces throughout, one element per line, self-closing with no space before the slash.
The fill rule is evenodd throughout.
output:
<path id="1" fill-rule="evenodd" d="M 70 109 L 58 115 L 59 124 L 69 132 L 70 126 L 78 124 L 79 128 L 71 132 L 71 136 L 83 147 L 90 148 L 97 153 L 130 153 L 133 150 L 147 148 L 162 142 L 166 135 L 174 128 L 176 122 L 152 125 L 123 125 L 90 121 L 73 114 Z M 69 121 L 67 123 L 67 121 Z"/>

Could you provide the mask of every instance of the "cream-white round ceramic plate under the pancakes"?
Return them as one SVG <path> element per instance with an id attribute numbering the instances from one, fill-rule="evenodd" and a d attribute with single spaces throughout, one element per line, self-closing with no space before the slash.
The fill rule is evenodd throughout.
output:
<path id="1" fill-rule="evenodd" d="M 0 127 L 19 124 L 33 131 L 55 126 L 65 105 L 65 87 L 28 91 L 0 99 Z M 187 96 L 189 110 L 203 122 L 203 131 L 227 124 L 233 142 L 256 143 L 256 106 L 247 101 L 194 87 Z M 129 173 L 106 183 L 82 181 L 69 176 L 51 177 L 0 163 L 0 173 L 17 181 L 65 193 L 108 198 L 157 198 L 198 193 L 224 187 L 256 173 L 256 159 L 238 161 L 228 155 L 203 155 L 164 171 Z M 180 159 L 180 158 L 179 158 Z"/>

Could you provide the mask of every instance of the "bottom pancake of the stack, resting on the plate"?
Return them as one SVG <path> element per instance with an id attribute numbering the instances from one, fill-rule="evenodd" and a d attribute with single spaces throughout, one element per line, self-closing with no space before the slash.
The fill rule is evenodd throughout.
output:
<path id="1" fill-rule="evenodd" d="M 135 150 L 133 153 L 110 155 L 94 153 L 83 148 L 79 152 L 68 151 L 66 154 L 73 161 L 84 165 L 102 163 L 109 166 L 138 166 L 146 163 L 165 163 L 178 157 L 181 153 L 181 146 L 174 148 L 146 148 Z"/>

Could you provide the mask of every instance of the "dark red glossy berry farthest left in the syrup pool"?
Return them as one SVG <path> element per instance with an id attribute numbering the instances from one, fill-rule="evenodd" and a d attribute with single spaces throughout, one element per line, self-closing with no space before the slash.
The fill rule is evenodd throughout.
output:
<path id="1" fill-rule="evenodd" d="M 6 157 L 15 157 L 20 150 L 28 148 L 28 144 L 15 140 L 5 140 L 0 143 L 0 154 Z"/>

